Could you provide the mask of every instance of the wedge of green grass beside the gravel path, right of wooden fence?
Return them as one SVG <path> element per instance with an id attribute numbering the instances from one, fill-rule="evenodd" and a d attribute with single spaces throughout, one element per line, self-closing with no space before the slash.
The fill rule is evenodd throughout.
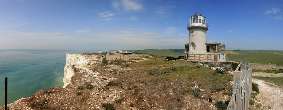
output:
<path id="1" fill-rule="evenodd" d="M 274 83 L 278 86 L 283 87 L 283 77 L 260 77 L 260 76 L 253 76 L 255 79 L 263 80 L 269 83 Z"/>

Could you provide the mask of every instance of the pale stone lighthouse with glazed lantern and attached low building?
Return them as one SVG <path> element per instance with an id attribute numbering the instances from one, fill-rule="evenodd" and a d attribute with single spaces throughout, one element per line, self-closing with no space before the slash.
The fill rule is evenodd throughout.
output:
<path id="1" fill-rule="evenodd" d="M 185 45 L 185 58 L 194 61 L 226 61 L 225 45 L 221 43 L 207 43 L 208 30 L 206 17 L 199 12 L 189 17 L 189 43 Z"/>

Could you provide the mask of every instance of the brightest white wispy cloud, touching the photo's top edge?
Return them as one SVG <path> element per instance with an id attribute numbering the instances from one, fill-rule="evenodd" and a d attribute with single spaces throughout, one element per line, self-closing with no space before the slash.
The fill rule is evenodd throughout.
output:
<path id="1" fill-rule="evenodd" d="M 112 6 L 117 11 L 120 11 L 121 9 L 125 12 L 136 12 L 143 10 L 143 5 L 141 3 L 138 3 L 139 1 L 134 0 L 121 0 L 121 1 L 113 1 Z"/>

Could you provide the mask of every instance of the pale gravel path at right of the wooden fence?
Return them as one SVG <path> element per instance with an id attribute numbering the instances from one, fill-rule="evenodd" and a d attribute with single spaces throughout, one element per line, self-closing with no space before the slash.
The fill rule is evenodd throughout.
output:
<path id="1" fill-rule="evenodd" d="M 262 106 L 271 107 L 269 110 L 283 110 L 283 88 L 273 83 L 253 79 L 259 85 L 259 95 L 256 96 L 258 103 Z M 264 108 L 263 108 L 264 109 Z"/>

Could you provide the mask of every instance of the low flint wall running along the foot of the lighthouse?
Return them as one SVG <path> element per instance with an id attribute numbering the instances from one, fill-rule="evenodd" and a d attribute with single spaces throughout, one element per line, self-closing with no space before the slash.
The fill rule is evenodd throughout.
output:
<path id="1" fill-rule="evenodd" d="M 183 60 L 183 59 L 177 59 L 177 60 Z M 236 70 L 238 67 L 239 63 L 235 61 L 223 61 L 223 62 L 216 62 L 216 61 L 191 61 L 191 60 L 183 60 L 183 61 L 188 61 L 191 63 L 196 63 L 200 64 L 203 66 L 209 66 L 212 65 L 213 67 L 222 67 L 222 68 L 229 68 L 233 71 Z"/>

